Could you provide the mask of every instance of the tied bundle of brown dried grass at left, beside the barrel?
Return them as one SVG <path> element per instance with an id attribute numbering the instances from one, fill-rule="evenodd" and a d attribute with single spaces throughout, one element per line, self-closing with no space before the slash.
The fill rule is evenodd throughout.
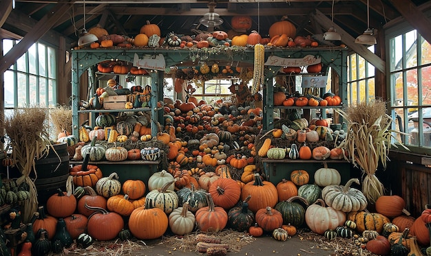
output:
<path id="1" fill-rule="evenodd" d="M 32 170 L 36 172 L 34 161 L 46 156 L 52 147 L 47 119 L 48 111 L 39 107 L 15 109 L 12 115 L 1 119 L 1 128 L 10 137 L 12 159 L 22 174 L 17 184 L 25 182 L 30 185 L 30 200 L 25 201 L 23 206 L 25 222 L 30 220 L 38 205 L 36 187 L 29 177 Z"/>

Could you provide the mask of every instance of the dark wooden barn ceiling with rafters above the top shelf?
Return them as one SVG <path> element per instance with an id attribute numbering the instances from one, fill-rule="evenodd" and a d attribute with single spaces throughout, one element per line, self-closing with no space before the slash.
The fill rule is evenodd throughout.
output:
<path id="1" fill-rule="evenodd" d="M 45 21 L 45 25 L 40 25 L 43 30 L 39 34 L 54 31 L 65 36 L 72 46 L 83 27 L 88 30 L 96 24 L 102 25 L 110 34 L 127 36 L 136 36 L 145 21 L 159 25 L 162 34 L 193 34 L 193 30 L 207 30 L 207 27 L 200 25 L 199 19 L 209 12 L 208 1 L 201 0 L 15 0 L 14 6 L 12 0 L 3 2 L 9 4 L 0 6 L 0 14 L 3 14 L 0 20 L 3 29 L 1 36 L 25 36 L 34 30 L 39 21 Z M 424 14 L 431 9 L 430 1 L 369 2 L 369 27 L 375 28 L 376 32 L 388 23 L 404 18 L 416 24 L 425 21 L 423 30 L 428 31 L 425 34 L 431 33 L 428 30 L 431 23 Z M 287 15 L 288 20 L 297 27 L 297 34 L 323 34 L 328 30 L 325 24 L 332 22 L 332 5 L 336 28 L 353 38 L 366 30 L 367 0 L 219 0 L 215 1 L 214 12 L 220 15 L 224 23 L 216 28 L 229 31 L 232 16 L 248 15 L 253 19 L 252 30 L 264 35 L 271 24 Z"/>

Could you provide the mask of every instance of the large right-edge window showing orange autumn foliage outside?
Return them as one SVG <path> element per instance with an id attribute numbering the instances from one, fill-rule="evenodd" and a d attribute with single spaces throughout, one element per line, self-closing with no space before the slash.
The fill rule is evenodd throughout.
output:
<path id="1" fill-rule="evenodd" d="M 431 45 L 416 30 L 388 36 L 390 108 L 399 139 L 431 148 Z M 421 150 L 423 152 L 423 150 Z"/>

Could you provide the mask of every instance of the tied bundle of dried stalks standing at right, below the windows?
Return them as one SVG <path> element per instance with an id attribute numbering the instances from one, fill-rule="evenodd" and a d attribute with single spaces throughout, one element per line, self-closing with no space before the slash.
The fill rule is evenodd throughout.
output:
<path id="1" fill-rule="evenodd" d="M 386 169 L 390 147 L 397 148 L 392 143 L 392 132 L 403 133 L 390 129 L 392 118 L 387 114 L 386 102 L 382 100 L 361 102 L 348 106 L 346 112 L 337 112 L 347 121 L 348 128 L 348 135 L 340 147 L 348 149 L 349 160 L 364 172 L 362 192 L 368 201 L 375 203 L 384 192 L 375 172 L 380 163 Z M 397 140 L 396 137 L 394 139 Z"/>

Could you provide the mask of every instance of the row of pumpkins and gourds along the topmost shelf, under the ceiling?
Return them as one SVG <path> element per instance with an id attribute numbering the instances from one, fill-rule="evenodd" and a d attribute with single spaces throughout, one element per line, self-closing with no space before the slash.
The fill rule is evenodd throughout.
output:
<path id="1" fill-rule="evenodd" d="M 251 17 L 240 16 L 245 22 L 238 22 L 237 16 L 232 18 L 233 30 L 229 32 L 215 31 L 202 32 L 197 35 L 179 35 L 174 32 L 166 33 L 162 36 L 160 27 L 151 24 L 149 21 L 140 28 L 139 33 L 134 38 L 118 34 L 109 34 L 100 25 L 92 27 L 88 32 L 98 37 L 98 41 L 92 43 L 90 48 L 111 48 L 111 47 L 196 47 L 207 48 L 218 45 L 248 47 L 258 43 L 273 47 L 317 47 L 319 43 L 311 36 L 297 36 L 296 27 L 284 16 L 269 27 L 267 36 L 260 35 L 257 31 L 251 30 Z M 251 31 L 250 31 L 251 30 Z M 250 32 L 249 32 L 250 31 Z M 81 49 L 76 47 L 75 49 Z"/>

